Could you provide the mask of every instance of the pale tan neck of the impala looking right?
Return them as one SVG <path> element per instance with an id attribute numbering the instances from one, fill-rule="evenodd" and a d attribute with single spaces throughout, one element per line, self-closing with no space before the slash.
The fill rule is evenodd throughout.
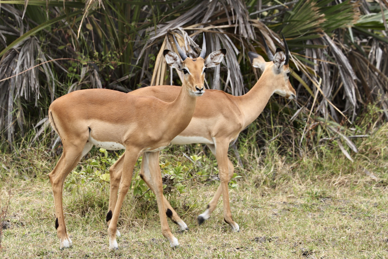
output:
<path id="1" fill-rule="evenodd" d="M 243 96 L 237 96 L 240 110 L 244 114 L 244 127 L 251 124 L 262 113 L 269 98 L 274 94 L 274 87 L 268 73 L 263 73 L 256 84 Z"/>

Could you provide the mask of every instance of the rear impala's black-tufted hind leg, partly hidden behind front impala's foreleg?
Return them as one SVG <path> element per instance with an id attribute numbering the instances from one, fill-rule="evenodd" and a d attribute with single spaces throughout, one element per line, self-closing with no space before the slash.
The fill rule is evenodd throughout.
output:
<path id="1" fill-rule="evenodd" d="M 159 160 L 158 160 L 158 165 L 159 165 Z M 158 172 L 160 173 L 160 168 Z M 147 155 L 143 155 L 142 165 L 140 169 L 140 177 L 148 185 L 151 191 L 155 193 L 155 183 L 152 181 L 150 167 L 149 167 L 149 160 Z M 173 223 L 177 224 L 181 231 L 189 230 L 186 223 L 178 216 L 177 212 L 175 212 L 175 210 L 171 207 L 170 203 L 168 202 L 168 200 L 164 195 L 163 195 L 163 203 L 166 209 L 165 210 L 166 216 L 169 217 Z"/>

